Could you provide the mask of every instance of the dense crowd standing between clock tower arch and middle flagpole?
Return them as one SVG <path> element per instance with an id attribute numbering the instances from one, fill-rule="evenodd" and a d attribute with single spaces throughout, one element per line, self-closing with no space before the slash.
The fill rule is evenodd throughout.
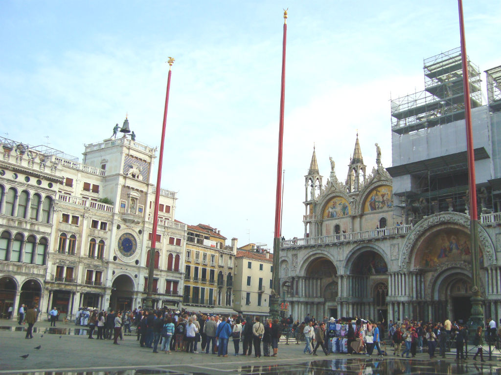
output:
<path id="1" fill-rule="evenodd" d="M 241 343 L 242 355 L 252 355 L 254 347 L 256 357 L 277 356 L 282 334 L 277 319 L 262 322 L 259 316 L 252 319 L 241 315 L 197 315 L 170 309 L 92 311 L 86 323 L 90 339 L 94 338 L 97 328 L 97 339 L 113 339 L 114 344 L 120 344 L 118 341 L 124 339 L 125 332 L 132 332 L 131 326 L 134 325 L 140 347 L 167 354 L 172 351 L 198 353 L 200 345 L 200 352 L 228 356 L 228 342 L 232 340 L 234 355 L 240 354 Z"/>

